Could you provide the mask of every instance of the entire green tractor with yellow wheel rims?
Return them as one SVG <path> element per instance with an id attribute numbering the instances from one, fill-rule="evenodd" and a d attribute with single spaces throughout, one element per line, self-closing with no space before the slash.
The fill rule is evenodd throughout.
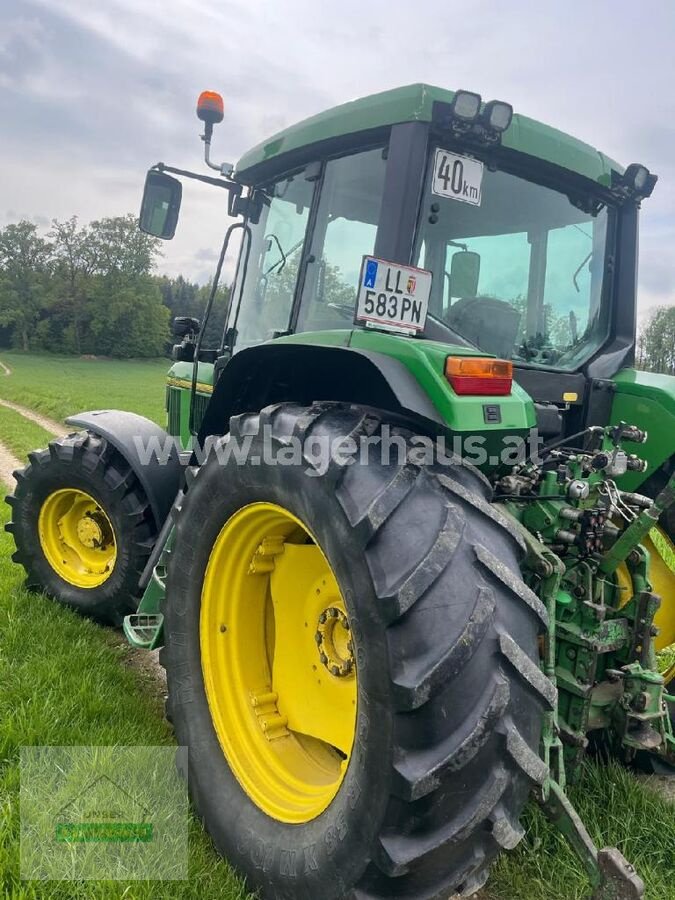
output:
<path id="1" fill-rule="evenodd" d="M 227 192 L 167 430 L 126 412 L 17 473 L 29 583 L 161 647 L 217 849 L 265 898 L 470 896 L 532 791 L 594 896 L 642 882 L 566 794 L 592 743 L 675 762 L 675 381 L 632 368 L 656 177 L 416 84 L 288 128 Z M 240 238 L 222 340 L 204 346 Z"/>

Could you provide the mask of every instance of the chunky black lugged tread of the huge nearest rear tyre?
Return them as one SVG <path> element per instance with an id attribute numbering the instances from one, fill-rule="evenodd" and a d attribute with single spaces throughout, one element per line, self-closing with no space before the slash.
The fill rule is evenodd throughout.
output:
<path id="1" fill-rule="evenodd" d="M 375 434 L 386 419 L 346 403 L 284 403 L 239 415 L 230 430 L 241 437 L 268 427 L 283 446 L 313 432 Z M 317 467 L 309 455 L 304 462 Z M 465 463 L 449 470 L 408 459 L 378 469 L 332 460 L 321 477 L 333 484 L 372 577 L 388 646 L 395 743 L 386 814 L 358 883 L 340 894 L 327 883 L 313 900 L 468 897 L 485 884 L 498 853 L 521 839 L 519 816 L 544 777 L 539 731 L 556 691 L 537 662 L 547 617 L 520 577 L 524 542 L 490 504 L 485 477 Z M 208 491 L 208 478 L 198 491 Z M 198 502 L 188 496 L 177 515 L 178 544 L 183 530 L 189 541 L 191 500 Z M 418 520 L 427 531 L 414 536 L 408 563 L 400 542 L 412 537 L 404 525 L 406 516 L 415 521 L 406 512 L 413 508 L 429 511 Z M 437 521 L 431 537 L 427 521 Z M 181 664 L 170 628 L 166 639 L 160 663 L 182 740 L 180 707 L 172 703 Z M 280 891 L 268 885 L 263 896 L 287 896 Z"/>

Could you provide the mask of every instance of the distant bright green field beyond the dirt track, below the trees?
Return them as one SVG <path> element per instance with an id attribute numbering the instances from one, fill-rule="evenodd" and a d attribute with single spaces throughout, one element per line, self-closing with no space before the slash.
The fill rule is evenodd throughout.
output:
<path id="1" fill-rule="evenodd" d="M 80 359 L 0 353 L 0 397 L 62 421 L 87 409 L 128 409 L 165 424 L 167 359 Z"/>

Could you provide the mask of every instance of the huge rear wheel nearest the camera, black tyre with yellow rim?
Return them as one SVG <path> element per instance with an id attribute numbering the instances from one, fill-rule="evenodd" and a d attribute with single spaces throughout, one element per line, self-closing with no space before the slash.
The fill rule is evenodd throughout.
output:
<path id="1" fill-rule="evenodd" d="M 302 465 L 260 464 L 294 441 L 307 448 L 310 439 L 323 446 L 347 436 L 372 439 L 384 420 L 327 403 L 239 416 L 218 447 L 221 460 L 214 455 L 193 473 L 177 515 L 160 652 L 168 712 L 189 749 L 190 794 L 217 849 L 270 900 L 469 896 L 485 883 L 491 860 L 522 837 L 529 790 L 546 776 L 541 719 L 555 701 L 538 664 L 546 612 L 521 579 L 523 548 L 486 501 L 485 479 L 464 465 L 385 464 L 373 446 L 367 465 L 333 462 L 322 475 L 314 452 Z M 410 433 L 398 433 L 410 449 Z M 245 462 L 223 458 L 247 439 Z M 255 541 L 246 549 L 241 535 L 248 532 L 237 528 L 272 509 L 299 530 L 279 525 L 257 552 Z M 276 795 L 265 797 L 268 770 L 260 767 L 256 781 L 253 751 L 248 770 L 242 764 L 241 736 L 260 715 L 259 701 L 272 698 L 286 732 L 274 740 L 304 740 L 293 732 L 298 697 L 274 683 L 276 654 L 294 654 L 304 665 L 316 623 L 305 622 L 305 630 L 300 622 L 289 647 L 277 641 L 287 633 L 283 623 L 256 630 L 246 617 L 258 603 L 253 621 L 262 623 L 264 609 L 278 602 L 274 561 L 266 567 L 261 558 L 282 559 L 284 541 L 311 550 L 311 538 L 344 602 L 358 702 L 353 745 L 342 754 L 348 765 L 335 775 L 327 805 L 292 818 L 274 811 Z M 297 576 L 297 600 L 293 591 L 286 595 L 291 606 L 304 596 L 300 567 Z M 258 579 L 253 591 L 250 579 Z M 204 612 L 213 610 L 214 597 L 220 618 Z M 247 692 L 244 677 L 251 660 L 265 659 L 256 641 L 268 648 L 264 700 Z M 318 675 L 345 674 L 325 666 L 323 649 L 317 638 L 315 664 L 304 676 L 307 702 Z M 215 675 L 227 666 L 232 682 L 221 681 L 219 692 Z M 335 714 L 349 727 L 348 711 Z M 253 748 L 259 737 L 252 741 Z"/>

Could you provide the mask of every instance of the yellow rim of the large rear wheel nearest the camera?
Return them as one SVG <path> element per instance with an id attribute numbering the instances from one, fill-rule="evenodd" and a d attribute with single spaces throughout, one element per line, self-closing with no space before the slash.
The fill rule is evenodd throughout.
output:
<path id="1" fill-rule="evenodd" d="M 357 676 L 333 571 L 292 513 L 253 503 L 211 550 L 200 613 L 206 697 L 227 762 L 268 816 L 330 805 L 354 744 Z"/>

